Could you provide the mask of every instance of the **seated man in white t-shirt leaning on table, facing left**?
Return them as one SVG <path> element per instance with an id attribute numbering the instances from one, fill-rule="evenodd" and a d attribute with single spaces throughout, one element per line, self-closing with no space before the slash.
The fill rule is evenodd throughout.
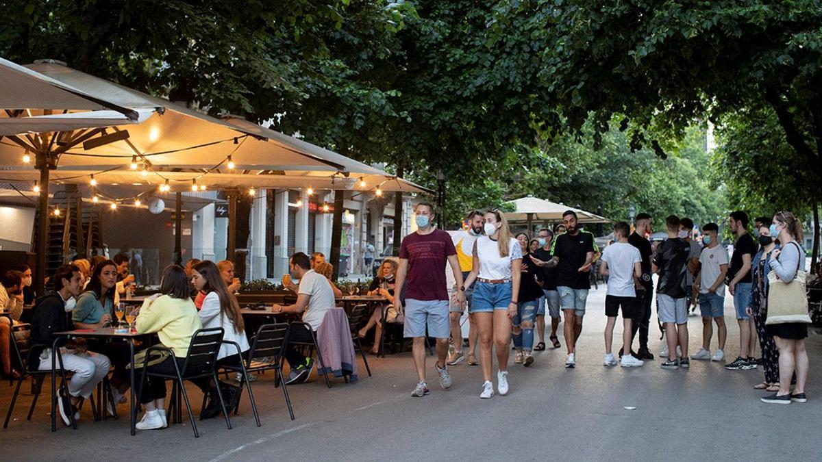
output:
<path id="1" fill-rule="evenodd" d="M 326 312 L 335 307 L 334 292 L 331 290 L 331 285 L 328 284 L 326 276 L 312 270 L 311 260 L 302 252 L 297 252 L 291 256 L 289 273 L 293 278 L 300 280 L 297 290 L 297 303 L 285 307 L 275 304 L 272 311 L 275 313 L 301 314 L 302 322 L 307 323 L 316 332 L 320 328 Z M 293 325 L 289 333 L 289 342 L 290 340 L 310 342 L 312 341 L 312 333 L 305 326 Z M 311 377 L 312 367 L 314 367 L 312 358 L 306 358 L 298 352 L 296 347 L 289 344 L 288 349 L 285 351 L 285 359 L 288 360 L 291 366 L 289 377 L 285 380 L 286 385 L 298 381 L 308 381 L 308 377 Z"/>

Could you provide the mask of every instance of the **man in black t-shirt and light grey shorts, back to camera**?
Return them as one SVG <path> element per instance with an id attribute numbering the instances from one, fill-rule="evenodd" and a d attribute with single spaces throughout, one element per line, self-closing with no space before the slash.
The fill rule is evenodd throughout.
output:
<path id="1" fill-rule="evenodd" d="M 658 273 L 657 306 L 659 321 L 665 325 L 668 358 L 663 369 L 690 367 L 688 359 L 688 307 L 686 302 L 686 277 L 690 245 L 679 238 L 679 217 L 665 219 L 667 241 L 658 245 L 653 253 L 651 270 Z M 677 345 L 681 358 L 677 358 Z"/>

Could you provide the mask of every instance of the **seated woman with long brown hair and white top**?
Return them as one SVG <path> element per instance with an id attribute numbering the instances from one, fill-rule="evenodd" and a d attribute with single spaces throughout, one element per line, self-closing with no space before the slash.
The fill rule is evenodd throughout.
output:
<path id="1" fill-rule="evenodd" d="M 229 286 L 225 284 L 220 271 L 213 261 L 204 260 L 192 268 L 192 284 L 195 289 L 205 293 L 203 305 L 198 313 L 204 329 L 222 327 L 225 342 L 234 342 L 245 353 L 251 348 L 246 338 L 245 324 L 242 320 L 240 305 L 237 297 L 229 293 Z M 223 344 L 217 355 L 218 364 L 236 365 L 242 361 L 233 344 Z M 203 412 L 204 418 L 215 417 L 219 414 L 219 400 L 212 400 Z"/>

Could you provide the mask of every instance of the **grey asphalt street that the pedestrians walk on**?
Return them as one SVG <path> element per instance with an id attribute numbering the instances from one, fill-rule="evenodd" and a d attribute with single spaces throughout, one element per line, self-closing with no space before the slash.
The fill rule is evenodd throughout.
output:
<path id="1" fill-rule="evenodd" d="M 235 427 L 221 418 L 161 431 L 128 433 L 126 418 L 95 423 L 84 409 L 76 431 L 49 432 L 48 399 L 25 420 L 22 395 L 9 428 L 0 430 L 3 460 L 818 460 L 822 430 L 822 337 L 808 339 L 806 404 L 763 404 L 753 386 L 761 369 L 726 371 L 692 361 L 690 370 L 603 367 L 604 287 L 592 290 L 577 348 L 538 353 L 532 367 L 511 364 L 510 394 L 480 400 L 480 367 L 451 367 L 454 386 L 441 390 L 429 357 L 432 394 L 412 398 L 410 353 L 369 356 L 374 377 L 326 388 L 323 381 L 289 387 L 296 420 L 288 418 L 270 373 L 252 383 L 261 409 L 256 427 L 243 398 Z M 726 353 L 736 357 L 738 330 L 730 298 Z M 651 349 L 662 347 L 652 321 Z M 701 321 L 690 317 L 690 344 L 701 344 Z M 615 332 L 620 339 L 621 325 Z M 715 348 L 714 340 L 714 348 Z M 564 342 L 563 342 L 564 344 Z M 615 351 L 618 349 L 616 345 Z M 691 349 L 694 353 L 695 349 Z M 513 355 L 511 357 L 513 361 Z M 365 376 L 365 377 L 363 377 Z M 24 385 L 28 391 L 28 386 Z M 13 388 L 0 383 L 4 414 Z M 200 392 L 190 387 L 199 406 Z M 48 393 L 48 388 L 44 390 Z M 121 412 L 126 409 L 121 406 Z M 198 408 L 196 408 L 198 409 Z"/>

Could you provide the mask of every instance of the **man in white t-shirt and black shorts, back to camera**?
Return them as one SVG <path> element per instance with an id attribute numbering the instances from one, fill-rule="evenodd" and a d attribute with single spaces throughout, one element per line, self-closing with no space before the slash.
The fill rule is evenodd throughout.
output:
<path id="1" fill-rule="evenodd" d="M 636 287 L 640 286 L 642 278 L 642 256 L 639 249 L 628 243 L 630 225 L 624 221 L 614 224 L 614 238 L 617 242 L 605 247 L 601 260 L 602 273 L 608 276 L 608 289 L 605 295 L 605 316 L 608 317 L 605 326 L 605 366 L 616 366 L 617 359 L 611 352 L 614 335 L 614 325 L 617 323 L 617 314 L 622 308 L 622 351 L 630 352 L 631 320 L 636 316 Z M 630 353 L 622 355 L 621 367 L 642 366 L 640 359 Z"/>

